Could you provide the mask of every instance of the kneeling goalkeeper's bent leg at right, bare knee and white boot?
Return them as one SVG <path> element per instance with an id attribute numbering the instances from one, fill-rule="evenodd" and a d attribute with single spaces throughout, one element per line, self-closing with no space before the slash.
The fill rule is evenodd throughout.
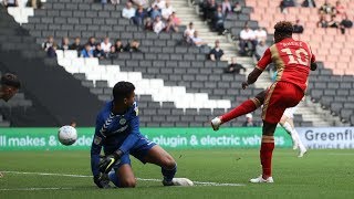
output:
<path id="1" fill-rule="evenodd" d="M 192 181 L 187 178 L 175 178 L 177 172 L 177 164 L 175 159 L 160 146 L 156 145 L 148 150 L 146 163 L 155 164 L 162 167 L 162 174 L 164 176 L 164 186 L 192 186 Z"/>

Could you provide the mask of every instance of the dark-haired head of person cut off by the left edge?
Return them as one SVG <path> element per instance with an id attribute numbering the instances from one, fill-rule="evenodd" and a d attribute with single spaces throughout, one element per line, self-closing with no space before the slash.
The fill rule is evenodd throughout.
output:
<path id="1" fill-rule="evenodd" d="M 0 81 L 0 98 L 8 102 L 19 92 L 21 83 L 18 76 L 11 73 L 2 75 Z M 0 178 L 1 177 L 3 177 L 3 175 L 0 172 Z"/>

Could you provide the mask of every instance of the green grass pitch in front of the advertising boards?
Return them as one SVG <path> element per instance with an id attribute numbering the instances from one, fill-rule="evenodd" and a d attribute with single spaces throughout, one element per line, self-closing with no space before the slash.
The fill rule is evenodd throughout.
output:
<path id="1" fill-rule="evenodd" d="M 91 177 L 4 172 L 0 178 L 0 198 L 354 198 L 353 150 L 310 150 L 304 158 L 296 158 L 291 149 L 275 148 L 273 185 L 248 182 L 260 174 L 258 149 L 170 150 L 170 154 L 178 163 L 177 177 L 244 186 L 163 187 L 159 181 L 138 180 L 134 189 L 102 190 Z M 157 166 L 133 160 L 133 169 L 138 178 L 162 179 Z M 90 153 L 0 151 L 0 170 L 88 176 Z"/>

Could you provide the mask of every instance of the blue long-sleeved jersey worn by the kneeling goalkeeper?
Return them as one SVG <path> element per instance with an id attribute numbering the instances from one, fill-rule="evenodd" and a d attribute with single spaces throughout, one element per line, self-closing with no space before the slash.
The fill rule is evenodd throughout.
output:
<path id="1" fill-rule="evenodd" d="M 91 168 L 94 176 L 98 174 L 102 147 L 105 155 L 110 155 L 117 149 L 128 154 L 135 143 L 144 137 L 139 132 L 136 102 L 124 115 L 115 115 L 112 109 L 113 102 L 108 102 L 96 118 L 95 135 L 91 146 Z"/>

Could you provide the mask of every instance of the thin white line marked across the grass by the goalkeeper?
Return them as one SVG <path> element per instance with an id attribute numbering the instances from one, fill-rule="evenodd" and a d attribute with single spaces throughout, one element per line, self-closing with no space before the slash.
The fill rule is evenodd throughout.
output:
<path id="1" fill-rule="evenodd" d="M 69 175 L 69 174 L 54 174 L 54 172 L 24 172 L 24 171 L 14 171 L 14 170 L 3 170 L 0 172 L 18 174 L 18 175 L 60 176 L 60 177 L 72 177 L 72 178 L 92 178 L 93 177 L 87 175 Z M 149 179 L 149 178 L 136 178 L 136 179 L 140 181 L 162 181 L 160 179 Z M 198 186 L 226 186 L 226 187 L 227 186 L 230 186 L 230 187 L 246 186 L 244 184 L 222 184 L 222 182 L 212 182 L 212 181 L 192 181 L 192 182 Z M 29 189 L 32 189 L 32 188 L 29 188 Z M 52 189 L 61 189 L 61 188 L 52 188 Z"/>

